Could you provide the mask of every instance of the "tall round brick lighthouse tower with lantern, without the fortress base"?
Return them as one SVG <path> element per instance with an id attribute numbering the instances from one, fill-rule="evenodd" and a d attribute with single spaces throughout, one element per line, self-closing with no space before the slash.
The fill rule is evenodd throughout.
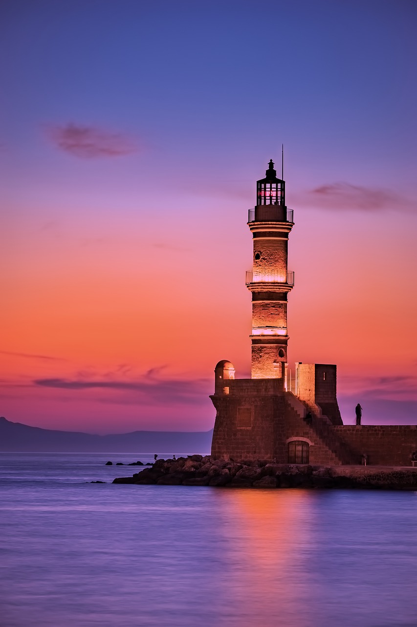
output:
<path id="1" fill-rule="evenodd" d="M 277 178 L 272 159 L 257 181 L 257 201 L 249 209 L 254 265 L 246 273 L 252 292 L 252 379 L 282 379 L 287 362 L 287 295 L 294 286 L 288 270 L 288 236 L 294 226 L 286 207 L 285 182 Z"/>

